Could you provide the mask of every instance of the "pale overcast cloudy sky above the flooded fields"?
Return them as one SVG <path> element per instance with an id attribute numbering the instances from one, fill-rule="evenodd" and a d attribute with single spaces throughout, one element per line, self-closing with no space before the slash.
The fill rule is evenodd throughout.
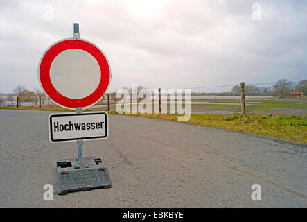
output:
<path id="1" fill-rule="evenodd" d="M 107 56 L 110 91 L 307 78 L 306 1 L 1 0 L 0 92 L 40 87 L 42 53 L 74 22 Z"/>

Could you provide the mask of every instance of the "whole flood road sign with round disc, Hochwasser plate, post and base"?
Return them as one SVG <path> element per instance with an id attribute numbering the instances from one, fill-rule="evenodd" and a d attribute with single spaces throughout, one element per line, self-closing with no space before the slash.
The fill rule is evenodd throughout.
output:
<path id="1" fill-rule="evenodd" d="M 97 46 L 80 39 L 79 24 L 73 24 L 73 38 L 52 44 L 38 65 L 38 79 L 44 92 L 58 105 L 75 113 L 49 115 L 51 142 L 77 141 L 78 158 L 57 162 L 58 194 L 95 188 L 110 188 L 107 168 L 98 157 L 83 160 L 83 139 L 107 139 L 107 112 L 86 112 L 97 103 L 111 79 L 109 62 Z"/>

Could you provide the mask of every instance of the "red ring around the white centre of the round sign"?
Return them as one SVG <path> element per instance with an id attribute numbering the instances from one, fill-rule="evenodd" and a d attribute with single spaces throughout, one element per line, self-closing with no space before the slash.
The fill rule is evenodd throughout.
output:
<path id="1" fill-rule="evenodd" d="M 58 56 L 59 53 L 67 49 L 81 49 L 87 51 L 94 56 L 97 60 L 98 65 L 101 71 L 100 83 L 96 90 L 89 96 L 82 99 L 71 99 L 66 96 L 63 96 L 58 92 L 55 87 L 53 87 L 50 79 L 50 67 L 54 58 Z M 107 59 L 103 53 L 96 46 L 89 42 L 83 40 L 63 40 L 58 42 L 50 47 L 44 54 L 40 62 L 40 83 L 44 88 L 44 91 L 50 98 L 59 105 L 64 106 L 65 108 L 78 108 L 78 107 L 87 107 L 96 103 L 105 93 L 107 87 L 109 86 L 110 80 L 110 70 Z"/>

